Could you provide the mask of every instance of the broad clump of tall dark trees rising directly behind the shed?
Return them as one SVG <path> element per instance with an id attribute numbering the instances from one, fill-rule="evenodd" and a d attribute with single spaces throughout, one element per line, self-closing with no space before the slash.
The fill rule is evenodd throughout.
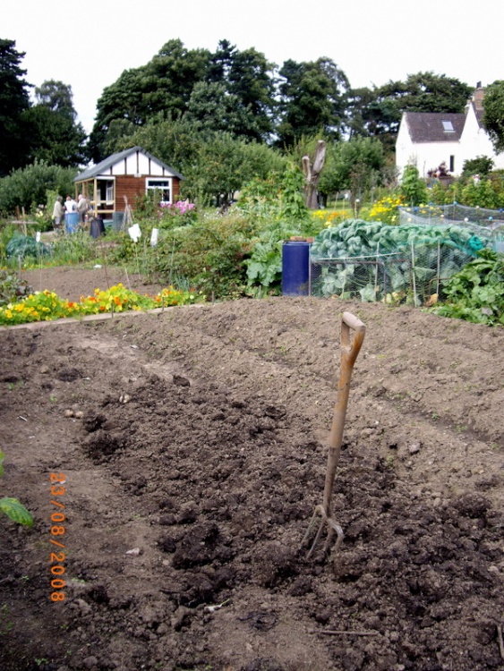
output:
<path id="1" fill-rule="evenodd" d="M 273 68 L 255 49 L 240 52 L 227 40 L 211 54 L 188 50 L 180 39 L 172 39 L 148 64 L 123 72 L 104 89 L 90 135 L 92 157 L 98 161 L 107 156 L 111 142 L 120 139 L 117 132 L 131 136 L 132 126 L 143 126 L 158 115 L 171 120 L 187 115 L 203 132 L 223 130 L 247 140 L 266 140 L 275 106 Z"/>

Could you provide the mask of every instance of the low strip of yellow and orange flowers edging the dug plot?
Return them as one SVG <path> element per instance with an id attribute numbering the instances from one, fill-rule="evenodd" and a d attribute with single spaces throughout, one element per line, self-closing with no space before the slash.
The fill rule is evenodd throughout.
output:
<path id="1" fill-rule="evenodd" d="M 126 310 L 152 310 L 162 306 L 188 305 L 197 301 L 195 293 L 167 287 L 155 296 L 141 294 L 124 285 L 112 286 L 107 291 L 95 289 L 92 296 L 81 296 L 79 302 L 66 301 L 56 293 L 43 291 L 30 293 L 19 302 L 0 307 L 0 324 L 13 326 L 33 321 L 51 321 L 62 318 L 79 318 L 102 312 Z"/>

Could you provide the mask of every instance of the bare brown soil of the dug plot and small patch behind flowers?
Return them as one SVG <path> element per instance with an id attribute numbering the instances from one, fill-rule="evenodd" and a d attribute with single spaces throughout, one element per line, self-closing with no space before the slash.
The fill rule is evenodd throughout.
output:
<path id="1" fill-rule="evenodd" d="M 107 288 L 32 272 L 68 298 Z M 367 332 L 324 561 L 301 543 L 343 310 Z M 504 668 L 503 329 L 276 298 L 0 342 L 0 497 L 36 520 L 0 518 L 3 671 Z"/>

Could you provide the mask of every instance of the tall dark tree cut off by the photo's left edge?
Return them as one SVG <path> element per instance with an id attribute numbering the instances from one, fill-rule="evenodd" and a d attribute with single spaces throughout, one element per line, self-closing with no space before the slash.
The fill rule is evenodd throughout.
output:
<path id="1" fill-rule="evenodd" d="M 0 39 L 0 175 L 24 165 L 28 149 L 22 113 L 30 107 L 30 84 L 20 67 L 25 54 L 15 44 Z"/>

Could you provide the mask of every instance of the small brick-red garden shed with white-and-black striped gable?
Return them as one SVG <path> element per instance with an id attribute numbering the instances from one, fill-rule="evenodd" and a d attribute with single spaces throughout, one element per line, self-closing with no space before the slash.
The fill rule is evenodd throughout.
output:
<path id="1" fill-rule="evenodd" d="M 75 191 L 90 201 L 96 217 L 122 221 L 126 203 L 160 191 L 162 202 L 175 202 L 183 175 L 141 147 L 124 149 L 90 166 L 73 182 Z"/>

